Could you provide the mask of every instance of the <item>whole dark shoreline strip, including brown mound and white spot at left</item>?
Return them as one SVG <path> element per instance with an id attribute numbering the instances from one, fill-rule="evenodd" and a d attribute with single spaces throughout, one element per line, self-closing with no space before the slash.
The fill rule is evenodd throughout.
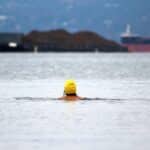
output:
<path id="1" fill-rule="evenodd" d="M 120 44 L 91 31 L 70 33 L 63 29 L 0 33 L 0 52 L 128 52 Z"/>

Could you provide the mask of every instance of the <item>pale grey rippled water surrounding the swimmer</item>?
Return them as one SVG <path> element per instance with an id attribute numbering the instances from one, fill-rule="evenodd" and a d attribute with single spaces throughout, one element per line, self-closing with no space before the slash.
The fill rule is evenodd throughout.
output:
<path id="1" fill-rule="evenodd" d="M 51 100 L 68 78 L 104 100 Z M 150 54 L 0 54 L 0 149 L 149 150 L 149 141 Z"/>

